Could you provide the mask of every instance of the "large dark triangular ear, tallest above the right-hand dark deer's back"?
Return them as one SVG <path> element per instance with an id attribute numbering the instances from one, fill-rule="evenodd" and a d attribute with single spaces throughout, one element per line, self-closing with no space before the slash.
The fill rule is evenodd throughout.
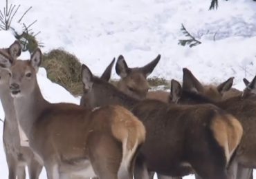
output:
<path id="1" fill-rule="evenodd" d="M 182 88 L 188 91 L 203 93 L 203 85 L 194 77 L 188 68 L 183 68 Z"/>

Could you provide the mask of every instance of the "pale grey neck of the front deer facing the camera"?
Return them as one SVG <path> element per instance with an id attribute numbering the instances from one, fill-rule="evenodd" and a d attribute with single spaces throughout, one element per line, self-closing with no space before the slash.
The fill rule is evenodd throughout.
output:
<path id="1" fill-rule="evenodd" d="M 36 83 L 35 89 L 30 95 L 14 98 L 14 105 L 19 124 L 28 139 L 30 139 L 30 131 L 33 124 L 50 103 L 44 99 Z"/>

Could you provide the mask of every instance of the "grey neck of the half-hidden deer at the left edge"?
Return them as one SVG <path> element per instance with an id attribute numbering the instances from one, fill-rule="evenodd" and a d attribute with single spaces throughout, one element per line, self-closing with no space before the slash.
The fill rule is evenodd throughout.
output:
<path id="1" fill-rule="evenodd" d="M 0 98 L 1 98 L 1 103 L 3 105 L 3 111 L 6 116 L 7 122 L 17 124 L 13 98 L 10 95 L 10 89 L 7 83 L 0 85 Z"/>

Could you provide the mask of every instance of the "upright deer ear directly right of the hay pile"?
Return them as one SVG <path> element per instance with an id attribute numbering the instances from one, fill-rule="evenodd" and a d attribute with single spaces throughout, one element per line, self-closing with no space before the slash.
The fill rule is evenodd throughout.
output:
<path id="1" fill-rule="evenodd" d="M 88 92 L 93 87 L 93 74 L 86 65 L 82 64 L 82 83 L 84 84 L 84 91 Z"/>

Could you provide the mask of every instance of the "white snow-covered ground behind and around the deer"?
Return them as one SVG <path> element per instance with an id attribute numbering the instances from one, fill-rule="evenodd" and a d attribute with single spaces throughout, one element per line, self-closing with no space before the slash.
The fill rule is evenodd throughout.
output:
<path id="1" fill-rule="evenodd" d="M 1 0 L 3 9 L 5 1 Z M 101 74 L 114 56 L 123 54 L 129 66 L 145 65 L 157 54 L 162 59 L 151 76 L 181 80 L 188 67 L 205 83 L 256 74 L 256 3 L 252 0 L 219 0 L 219 9 L 209 11 L 210 0 L 10 0 L 21 3 L 17 19 L 28 7 L 23 21 L 37 19 L 34 31 L 45 45 L 43 52 L 64 48 L 75 54 L 92 72 Z M 17 19 L 14 19 L 17 20 Z M 178 45 L 181 23 L 202 42 L 194 48 Z M 14 24 L 15 28 L 17 24 Z M 0 48 L 12 43 L 9 32 L 0 32 Z M 24 57 L 28 54 L 24 54 Z M 63 87 L 48 81 L 39 70 L 39 85 L 48 101 L 78 103 Z M 113 72 L 113 78 L 118 76 Z M 0 111 L 3 118 L 3 112 Z M 0 133 L 2 134 L 2 123 Z M 2 144 L 2 142 L 0 141 Z M 0 146 L 0 175 L 8 169 Z M 45 179 L 43 175 L 41 179 Z M 192 176 L 188 178 L 193 178 Z"/>

